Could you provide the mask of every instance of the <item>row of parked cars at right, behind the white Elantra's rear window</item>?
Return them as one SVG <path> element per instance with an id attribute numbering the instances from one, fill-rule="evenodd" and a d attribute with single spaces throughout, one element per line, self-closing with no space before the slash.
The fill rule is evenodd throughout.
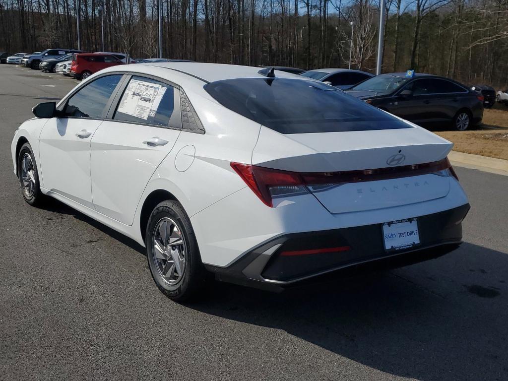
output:
<path id="1" fill-rule="evenodd" d="M 299 70 L 274 68 L 290 73 Z M 405 120 L 417 124 L 451 122 L 458 131 L 479 123 L 484 106 L 492 107 L 495 102 L 495 91 L 490 86 L 469 88 L 449 78 L 414 73 L 412 70 L 378 76 L 348 69 L 315 69 L 298 74 L 344 90 Z M 498 99 L 501 97 L 499 95 Z"/>

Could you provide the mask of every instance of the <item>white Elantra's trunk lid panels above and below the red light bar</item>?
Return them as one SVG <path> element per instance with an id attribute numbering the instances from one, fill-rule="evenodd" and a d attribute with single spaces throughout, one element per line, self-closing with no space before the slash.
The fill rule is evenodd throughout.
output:
<path id="1" fill-rule="evenodd" d="M 300 173 L 358 171 L 436 162 L 452 147 L 419 127 L 288 135 L 262 128 L 252 164 Z M 346 213 L 444 197 L 450 177 L 424 174 L 308 188 L 331 213 Z"/>

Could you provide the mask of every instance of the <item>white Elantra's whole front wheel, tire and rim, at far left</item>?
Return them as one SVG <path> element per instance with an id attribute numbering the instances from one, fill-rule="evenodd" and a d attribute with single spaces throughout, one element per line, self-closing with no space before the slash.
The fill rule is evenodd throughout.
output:
<path id="1" fill-rule="evenodd" d="M 23 144 L 19 150 L 18 178 L 23 199 L 32 206 L 40 205 L 44 195 L 39 187 L 37 163 L 29 143 Z"/>

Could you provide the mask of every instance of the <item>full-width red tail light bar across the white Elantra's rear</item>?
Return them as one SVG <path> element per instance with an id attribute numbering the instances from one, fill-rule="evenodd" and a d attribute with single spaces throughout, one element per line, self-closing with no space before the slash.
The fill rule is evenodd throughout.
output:
<path id="1" fill-rule="evenodd" d="M 459 179 L 448 157 L 431 163 L 341 172 L 298 173 L 234 162 L 231 163 L 231 168 L 238 173 L 252 192 L 269 207 L 273 207 L 273 198 L 317 192 L 337 184 L 388 180 L 426 174 L 453 176 L 457 180 Z"/>

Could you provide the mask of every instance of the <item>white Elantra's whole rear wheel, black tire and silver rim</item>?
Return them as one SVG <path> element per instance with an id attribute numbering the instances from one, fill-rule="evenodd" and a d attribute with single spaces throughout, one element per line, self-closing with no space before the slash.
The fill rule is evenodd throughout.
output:
<path id="1" fill-rule="evenodd" d="M 145 242 L 148 267 L 164 295 L 184 301 L 202 294 L 209 273 L 201 262 L 190 219 L 178 201 L 163 201 L 153 209 Z"/>

